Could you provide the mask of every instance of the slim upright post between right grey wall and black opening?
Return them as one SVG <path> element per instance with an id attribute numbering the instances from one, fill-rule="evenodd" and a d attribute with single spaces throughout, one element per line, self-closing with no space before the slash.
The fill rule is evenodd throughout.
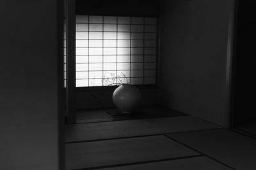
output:
<path id="1" fill-rule="evenodd" d="M 229 128 L 235 128 L 235 91 L 236 91 L 236 63 L 237 63 L 237 26 L 238 26 L 238 10 L 239 0 L 234 0 L 234 38 L 233 38 L 233 56 L 232 56 L 232 74 L 231 74 L 231 89 L 230 89 L 230 118 Z"/>

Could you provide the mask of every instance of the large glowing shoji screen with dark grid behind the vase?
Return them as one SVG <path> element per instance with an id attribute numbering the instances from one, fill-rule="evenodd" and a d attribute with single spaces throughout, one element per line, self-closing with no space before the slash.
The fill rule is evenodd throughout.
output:
<path id="1" fill-rule="evenodd" d="M 156 72 L 156 17 L 77 15 L 77 87 L 156 84 Z"/>

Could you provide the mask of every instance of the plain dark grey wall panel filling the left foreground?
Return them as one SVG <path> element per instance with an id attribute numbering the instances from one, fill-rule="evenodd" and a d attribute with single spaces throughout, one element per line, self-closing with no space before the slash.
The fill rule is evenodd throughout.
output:
<path id="1" fill-rule="evenodd" d="M 0 169 L 58 169 L 57 1 L 0 1 Z"/>

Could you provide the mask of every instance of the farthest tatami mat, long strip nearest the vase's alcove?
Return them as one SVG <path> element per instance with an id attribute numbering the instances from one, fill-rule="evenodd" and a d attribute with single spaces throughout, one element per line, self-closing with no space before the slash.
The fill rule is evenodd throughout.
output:
<path id="1" fill-rule="evenodd" d="M 191 116 L 67 125 L 66 143 L 220 128 Z"/>

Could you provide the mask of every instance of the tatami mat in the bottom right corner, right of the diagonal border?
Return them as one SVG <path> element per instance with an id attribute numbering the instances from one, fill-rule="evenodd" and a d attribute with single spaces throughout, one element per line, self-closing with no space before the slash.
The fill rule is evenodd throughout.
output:
<path id="1" fill-rule="evenodd" d="M 256 169 L 255 139 L 227 129 L 169 134 L 168 136 L 235 169 Z"/>

